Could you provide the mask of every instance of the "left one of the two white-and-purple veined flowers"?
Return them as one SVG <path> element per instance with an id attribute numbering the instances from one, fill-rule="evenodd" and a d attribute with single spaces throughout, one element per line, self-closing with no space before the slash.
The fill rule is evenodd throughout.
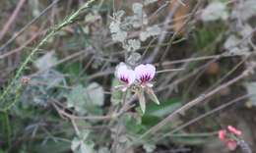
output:
<path id="1" fill-rule="evenodd" d="M 128 68 L 124 63 L 120 63 L 116 66 L 115 77 L 123 83 L 123 85 L 121 85 L 122 91 L 126 91 L 126 89 L 132 85 L 136 79 L 135 72 Z"/>

